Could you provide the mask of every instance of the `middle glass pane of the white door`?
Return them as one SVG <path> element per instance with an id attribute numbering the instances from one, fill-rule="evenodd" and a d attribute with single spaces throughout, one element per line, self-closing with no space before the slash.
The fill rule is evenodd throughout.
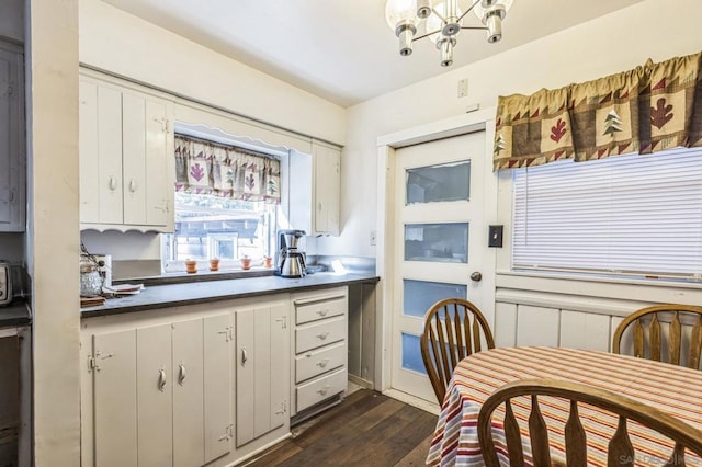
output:
<path id="1" fill-rule="evenodd" d="M 468 262 L 468 223 L 406 224 L 405 261 Z"/>

